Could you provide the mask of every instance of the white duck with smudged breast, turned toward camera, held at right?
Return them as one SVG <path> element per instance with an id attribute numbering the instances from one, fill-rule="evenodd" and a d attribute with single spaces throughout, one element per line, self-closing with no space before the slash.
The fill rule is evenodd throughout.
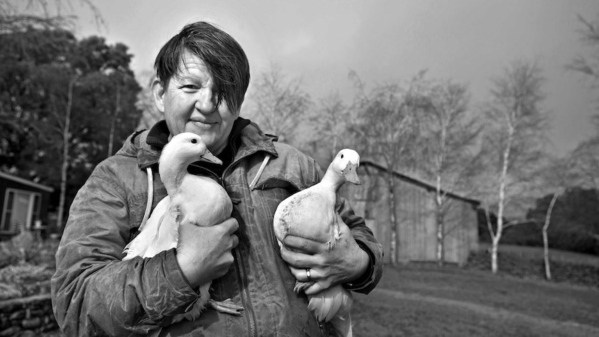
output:
<path id="1" fill-rule="evenodd" d="M 283 200 L 274 213 L 274 235 L 283 245 L 288 235 L 319 241 L 332 249 L 340 238 L 340 215 L 335 210 L 337 193 L 345 181 L 360 184 L 357 168 L 359 154 L 352 149 L 342 149 L 329 165 L 320 183 L 295 193 Z M 296 282 L 295 291 L 300 292 L 313 282 Z M 352 294 L 343 286 L 336 285 L 316 295 L 308 295 L 308 308 L 320 322 L 329 322 L 340 336 L 352 336 Z"/>

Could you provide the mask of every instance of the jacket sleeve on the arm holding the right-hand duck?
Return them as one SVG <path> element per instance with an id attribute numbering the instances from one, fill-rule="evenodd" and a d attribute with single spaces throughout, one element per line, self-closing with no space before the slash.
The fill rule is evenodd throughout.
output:
<path id="1" fill-rule="evenodd" d="M 315 170 L 313 171 L 315 176 L 313 176 L 313 179 L 318 182 L 323 176 L 322 170 L 315 161 L 313 161 L 313 165 L 315 165 Z M 335 208 L 341 219 L 343 219 L 343 222 L 347 224 L 347 227 L 350 227 L 352 236 L 354 236 L 358 245 L 370 257 L 368 270 L 358 279 L 351 283 L 345 283 L 343 286 L 347 290 L 352 290 L 356 293 L 368 294 L 377 286 L 383 276 L 383 246 L 375 239 L 372 231 L 366 227 L 364 218 L 354 213 L 354 209 L 347 202 L 347 199 L 338 197 Z"/>

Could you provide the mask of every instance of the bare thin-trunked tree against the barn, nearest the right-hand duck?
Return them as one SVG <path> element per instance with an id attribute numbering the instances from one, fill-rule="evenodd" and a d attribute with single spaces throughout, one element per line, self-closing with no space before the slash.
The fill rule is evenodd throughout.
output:
<path id="1" fill-rule="evenodd" d="M 370 92 L 355 72 L 357 94 L 352 109 L 355 110 L 350 129 L 355 134 L 359 153 L 373 160 L 382 161 L 386 167 L 389 188 L 389 216 L 391 225 L 391 263 L 397 263 L 397 232 L 399 223 L 395 218 L 395 179 L 393 172 L 414 167 L 414 149 L 418 146 L 419 94 L 425 72 L 420 72 L 402 88 L 398 83 L 377 85 Z"/>

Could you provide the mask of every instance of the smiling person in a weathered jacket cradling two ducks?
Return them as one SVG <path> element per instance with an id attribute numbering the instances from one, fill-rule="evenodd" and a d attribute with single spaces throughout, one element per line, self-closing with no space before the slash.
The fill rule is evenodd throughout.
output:
<path id="1" fill-rule="evenodd" d="M 322 171 L 239 116 L 249 63 L 229 34 L 206 22 L 188 24 L 162 47 L 154 66 L 151 90 L 164 120 L 133 133 L 99 163 L 70 208 L 51 279 L 60 329 L 67 336 L 327 334 L 307 309 L 306 294 L 335 284 L 359 293 L 375 288 L 382 248 L 372 231 L 340 198 L 345 224 L 331 252 L 298 237 L 286 238 L 290 249 L 279 249 L 272 229 L 277 205 L 318 183 Z M 200 135 L 222 160 L 188 170 L 218 180 L 233 214 L 212 227 L 181 226 L 175 249 L 122 261 L 124 247 L 166 195 L 158 157 L 182 132 Z M 296 279 L 315 283 L 297 294 Z M 197 286 L 210 280 L 211 297 L 243 306 L 241 315 L 207 309 L 197 320 L 173 323 L 197 300 Z"/>

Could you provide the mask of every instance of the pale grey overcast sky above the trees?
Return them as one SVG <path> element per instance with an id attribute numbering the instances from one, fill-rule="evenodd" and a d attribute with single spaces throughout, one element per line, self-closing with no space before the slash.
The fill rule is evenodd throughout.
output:
<path id="1" fill-rule="evenodd" d="M 197 20 L 238 40 L 253 79 L 277 65 L 288 79 L 300 78 L 314 101 L 332 92 L 349 99 L 350 70 L 376 85 L 427 69 L 429 79 L 468 85 L 474 109 L 511 61 L 536 60 L 546 79 L 550 149 L 563 155 L 594 132 L 589 116 L 598 113 L 599 94 L 566 65 L 588 51 L 577 15 L 599 20 L 599 0 L 92 2 L 105 24 L 74 4 L 76 35 L 126 44 L 136 74 L 151 71 L 162 45 Z"/>

